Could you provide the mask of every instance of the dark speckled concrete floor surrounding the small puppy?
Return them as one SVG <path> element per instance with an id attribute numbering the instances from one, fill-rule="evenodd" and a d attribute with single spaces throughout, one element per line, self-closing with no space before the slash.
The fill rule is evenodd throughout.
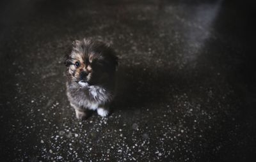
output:
<path id="1" fill-rule="evenodd" d="M 1 161 L 253 161 L 253 5 L 239 1 L 1 1 Z M 252 10 L 253 9 L 253 10 Z M 118 92 L 77 121 L 63 55 L 111 43 Z"/>

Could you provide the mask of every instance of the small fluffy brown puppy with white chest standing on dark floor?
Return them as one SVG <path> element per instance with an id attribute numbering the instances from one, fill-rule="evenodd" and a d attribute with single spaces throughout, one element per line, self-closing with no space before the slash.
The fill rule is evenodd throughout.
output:
<path id="1" fill-rule="evenodd" d="M 113 101 L 118 57 L 105 43 L 84 38 L 73 43 L 65 60 L 67 96 L 77 119 L 86 119 L 88 110 L 106 117 Z"/>

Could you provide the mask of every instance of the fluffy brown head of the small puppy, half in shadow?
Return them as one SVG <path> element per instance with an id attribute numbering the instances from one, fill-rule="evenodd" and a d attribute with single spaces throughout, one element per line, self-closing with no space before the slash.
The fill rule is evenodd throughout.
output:
<path id="1" fill-rule="evenodd" d="M 104 43 L 84 39 L 74 42 L 65 64 L 68 80 L 89 85 L 104 84 L 115 73 L 117 57 Z"/>

